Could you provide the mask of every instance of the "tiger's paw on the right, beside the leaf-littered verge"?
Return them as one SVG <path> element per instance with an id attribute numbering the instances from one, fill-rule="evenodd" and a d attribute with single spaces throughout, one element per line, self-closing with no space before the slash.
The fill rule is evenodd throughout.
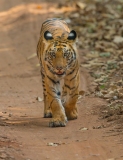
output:
<path id="1" fill-rule="evenodd" d="M 65 113 L 68 120 L 74 120 L 78 117 L 77 108 L 74 108 L 73 110 L 65 109 Z"/>

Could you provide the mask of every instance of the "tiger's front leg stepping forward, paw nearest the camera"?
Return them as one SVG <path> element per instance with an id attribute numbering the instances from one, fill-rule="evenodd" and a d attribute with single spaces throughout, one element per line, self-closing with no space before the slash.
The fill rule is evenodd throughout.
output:
<path id="1" fill-rule="evenodd" d="M 47 76 L 47 101 L 52 112 L 52 120 L 49 122 L 50 127 L 66 126 L 67 117 L 60 99 L 60 83 Z"/>

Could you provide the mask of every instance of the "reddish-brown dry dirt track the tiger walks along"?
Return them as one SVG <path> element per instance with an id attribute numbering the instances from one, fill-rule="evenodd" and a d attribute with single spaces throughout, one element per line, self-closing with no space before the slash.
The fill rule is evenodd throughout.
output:
<path id="1" fill-rule="evenodd" d="M 62 13 L 57 3 L 0 0 L 0 160 L 123 160 L 123 134 L 99 117 L 102 99 L 80 99 L 79 118 L 63 128 L 43 118 L 38 60 L 27 57 L 36 52 L 42 22 Z M 90 78 L 81 75 L 87 90 Z"/>

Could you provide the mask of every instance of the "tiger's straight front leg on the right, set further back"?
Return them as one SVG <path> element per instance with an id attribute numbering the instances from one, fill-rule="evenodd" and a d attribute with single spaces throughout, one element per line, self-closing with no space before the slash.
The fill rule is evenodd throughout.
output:
<path id="1" fill-rule="evenodd" d="M 67 94 L 69 94 L 69 99 L 65 102 L 65 113 L 68 120 L 77 119 L 78 111 L 77 111 L 77 100 L 79 95 L 79 71 L 70 78 L 65 81 L 65 85 L 67 88 Z"/>

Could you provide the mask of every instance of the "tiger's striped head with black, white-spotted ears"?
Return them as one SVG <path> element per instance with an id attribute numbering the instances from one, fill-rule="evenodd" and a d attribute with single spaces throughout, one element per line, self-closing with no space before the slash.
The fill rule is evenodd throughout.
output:
<path id="1" fill-rule="evenodd" d="M 67 33 L 67 36 L 55 37 L 49 31 L 44 33 L 44 60 L 48 70 L 57 77 L 63 77 L 76 61 L 76 37 L 74 30 Z"/>

